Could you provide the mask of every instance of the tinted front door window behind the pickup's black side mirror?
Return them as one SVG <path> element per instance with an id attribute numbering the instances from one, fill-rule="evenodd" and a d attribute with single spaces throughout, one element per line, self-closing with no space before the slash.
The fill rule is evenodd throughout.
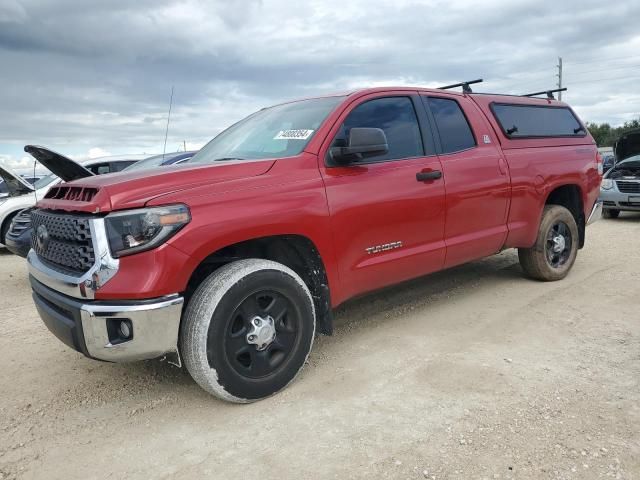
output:
<path id="1" fill-rule="evenodd" d="M 380 128 L 387 137 L 389 151 L 384 155 L 369 157 L 367 161 L 424 156 L 418 119 L 413 102 L 408 97 L 377 98 L 358 105 L 344 120 L 333 146 L 346 146 L 349 132 L 354 127 Z"/>

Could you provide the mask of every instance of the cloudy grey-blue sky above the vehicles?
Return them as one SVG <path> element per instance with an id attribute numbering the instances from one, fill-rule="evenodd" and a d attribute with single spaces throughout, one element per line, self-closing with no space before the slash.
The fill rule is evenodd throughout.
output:
<path id="1" fill-rule="evenodd" d="M 588 121 L 640 116 L 640 2 L 2 0 L 0 162 L 197 148 L 275 102 L 371 85 L 553 87 Z"/>

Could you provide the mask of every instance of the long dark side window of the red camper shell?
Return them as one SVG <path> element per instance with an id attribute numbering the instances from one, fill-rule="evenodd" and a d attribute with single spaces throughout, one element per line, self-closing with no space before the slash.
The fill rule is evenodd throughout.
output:
<path id="1" fill-rule="evenodd" d="M 491 110 L 509 138 L 586 135 L 584 127 L 567 107 L 492 103 Z"/>

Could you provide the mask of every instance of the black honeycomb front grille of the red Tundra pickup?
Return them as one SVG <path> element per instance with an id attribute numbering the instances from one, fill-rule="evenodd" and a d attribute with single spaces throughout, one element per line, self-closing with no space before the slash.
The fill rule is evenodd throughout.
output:
<path id="1" fill-rule="evenodd" d="M 90 218 L 33 210 L 31 248 L 52 268 L 65 273 L 85 273 L 95 263 Z"/>

